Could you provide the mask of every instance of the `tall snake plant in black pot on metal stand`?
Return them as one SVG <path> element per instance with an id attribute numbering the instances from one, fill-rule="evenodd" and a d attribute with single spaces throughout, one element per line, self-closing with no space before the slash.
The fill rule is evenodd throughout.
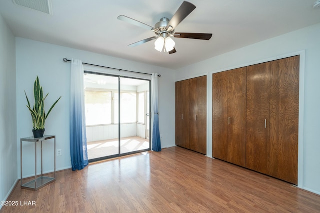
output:
<path id="1" fill-rule="evenodd" d="M 49 94 L 47 93 L 43 97 L 43 91 L 42 87 L 40 86 L 39 78 L 36 76 L 36 79 L 34 81 L 34 86 L 33 86 L 33 94 L 34 94 L 34 105 L 33 108 L 31 109 L 30 107 L 30 102 L 28 100 L 28 97 L 26 96 L 26 93 L 24 91 L 25 98 L 27 101 L 26 107 L 29 109 L 32 117 L 32 126 L 33 126 L 33 136 L 34 138 L 41 138 L 43 137 L 44 133 L 44 122 L 45 119 L 48 117 L 49 113 L 51 112 L 52 108 L 54 105 L 58 102 L 58 100 L 61 98 L 61 96 L 52 104 L 50 107 L 49 111 L 47 114 L 44 112 L 44 100 L 46 96 Z"/>

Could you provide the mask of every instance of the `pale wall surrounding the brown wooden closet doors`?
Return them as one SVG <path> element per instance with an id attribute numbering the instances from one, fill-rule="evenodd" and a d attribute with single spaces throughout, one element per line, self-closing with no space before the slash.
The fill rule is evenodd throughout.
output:
<path id="1" fill-rule="evenodd" d="M 183 67 L 176 71 L 175 80 L 208 74 L 208 155 L 211 155 L 211 103 L 212 73 L 231 68 L 264 62 L 293 53 L 301 53 L 300 60 L 300 114 L 299 117 L 299 159 L 298 186 L 320 194 L 320 24 L 315 24 L 262 42 L 258 42 L 205 61 Z M 213 37 L 214 39 L 214 37 Z M 214 51 L 214 49 L 212 49 Z M 304 54 L 305 52 L 305 54 Z M 304 72 L 304 73 L 303 73 Z M 302 78 L 301 78 L 302 77 Z M 303 79 L 304 77 L 304 79 Z M 303 108 L 304 107 L 304 108 Z M 302 125 L 301 125 L 302 124 Z"/>

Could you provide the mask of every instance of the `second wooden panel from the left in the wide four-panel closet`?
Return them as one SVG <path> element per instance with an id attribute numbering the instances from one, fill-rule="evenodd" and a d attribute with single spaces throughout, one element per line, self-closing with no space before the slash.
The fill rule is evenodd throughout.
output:
<path id="1" fill-rule="evenodd" d="M 227 161 L 245 167 L 246 68 L 227 74 Z"/>

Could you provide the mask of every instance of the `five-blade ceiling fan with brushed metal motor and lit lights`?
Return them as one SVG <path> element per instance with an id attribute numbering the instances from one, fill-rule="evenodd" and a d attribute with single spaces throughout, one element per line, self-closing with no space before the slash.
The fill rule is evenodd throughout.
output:
<path id="1" fill-rule="evenodd" d="M 137 25 L 139 27 L 143 27 L 145 29 L 153 31 L 156 36 L 152 36 L 135 43 L 131 43 L 128 46 L 137 46 L 139 44 L 155 40 L 154 48 L 159 52 L 166 51 L 169 54 L 176 52 L 174 48 L 174 41 L 171 38 L 193 38 L 193 39 L 202 39 L 202 40 L 209 40 L 212 36 L 211 33 L 191 33 L 191 32 L 174 32 L 174 28 L 188 15 L 195 9 L 195 6 L 187 1 L 183 1 L 180 7 L 176 10 L 173 14 L 171 19 L 167 17 L 162 17 L 159 22 L 157 22 L 154 27 L 137 21 L 133 18 L 127 17 L 125 15 L 119 15 L 117 19 L 126 21 L 128 23 Z"/>

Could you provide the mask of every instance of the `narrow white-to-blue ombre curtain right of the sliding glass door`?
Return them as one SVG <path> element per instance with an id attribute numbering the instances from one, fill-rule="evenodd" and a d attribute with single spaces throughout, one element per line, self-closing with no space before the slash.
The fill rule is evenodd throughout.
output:
<path id="1" fill-rule="evenodd" d="M 153 106 L 153 128 L 152 128 L 152 150 L 161 151 L 161 141 L 159 133 L 159 112 L 158 112 L 158 74 L 151 76 L 151 98 Z"/>

